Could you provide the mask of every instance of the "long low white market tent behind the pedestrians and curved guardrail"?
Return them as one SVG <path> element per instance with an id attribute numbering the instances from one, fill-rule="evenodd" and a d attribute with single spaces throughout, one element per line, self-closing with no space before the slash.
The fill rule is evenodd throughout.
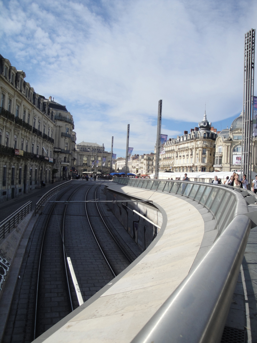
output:
<path id="1" fill-rule="evenodd" d="M 177 177 L 180 177 L 180 180 L 183 180 L 183 177 L 185 176 L 185 171 L 183 172 L 174 172 L 174 173 L 163 173 L 163 172 L 159 172 L 159 179 L 160 180 L 168 180 L 168 178 L 172 178 L 173 180 L 176 180 Z M 229 178 L 231 177 L 231 175 L 233 174 L 233 171 L 212 171 L 210 173 L 206 173 L 205 171 L 195 171 L 195 172 L 187 172 L 187 177 L 191 180 L 191 181 L 198 181 L 198 182 L 211 182 L 215 176 L 218 177 L 218 179 L 220 178 L 222 181 L 222 184 L 224 183 L 224 181 L 226 180 L 227 176 L 229 176 Z M 239 174 L 239 178 L 241 178 L 241 174 Z M 257 175 L 257 173 L 254 173 L 252 171 L 251 173 L 251 179 L 255 179 L 255 175 Z M 154 174 L 150 174 L 149 175 L 151 179 L 154 178 Z"/>

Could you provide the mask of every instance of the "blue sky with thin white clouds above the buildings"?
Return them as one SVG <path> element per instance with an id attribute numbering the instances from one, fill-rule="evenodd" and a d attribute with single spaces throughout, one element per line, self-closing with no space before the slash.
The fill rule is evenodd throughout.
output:
<path id="1" fill-rule="evenodd" d="M 250 10 L 249 10 L 250 9 Z M 244 34 L 257 2 L 0 0 L 0 54 L 73 115 L 77 143 L 154 151 L 158 101 L 168 138 L 242 111 Z M 255 95 L 257 93 L 255 92 Z"/>

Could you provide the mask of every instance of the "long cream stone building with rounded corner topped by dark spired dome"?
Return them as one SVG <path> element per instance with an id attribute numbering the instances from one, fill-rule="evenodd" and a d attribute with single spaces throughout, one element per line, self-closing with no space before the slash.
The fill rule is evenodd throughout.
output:
<path id="1" fill-rule="evenodd" d="M 206 114 L 198 126 L 165 143 L 160 171 L 213 171 L 217 130 L 211 127 Z"/>

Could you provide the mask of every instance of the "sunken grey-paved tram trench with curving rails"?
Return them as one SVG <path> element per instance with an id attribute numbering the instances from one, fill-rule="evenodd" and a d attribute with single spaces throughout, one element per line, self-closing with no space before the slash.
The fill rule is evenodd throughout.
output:
<path id="1" fill-rule="evenodd" d="M 101 181 L 73 181 L 71 186 L 57 193 L 56 198 L 61 195 L 59 200 L 68 200 L 77 189 L 70 200 L 84 201 L 85 194 L 89 189 L 86 200 L 94 199 L 95 191 L 100 185 L 97 190 L 97 198 L 100 196 L 103 199 L 105 197 L 102 192 L 103 184 Z M 15 288 L 3 343 L 33 341 L 39 255 L 44 228 L 52 206 L 52 203 L 48 203 L 44 207 L 30 235 L 20 271 L 21 279 L 18 280 Z M 36 336 L 49 329 L 71 311 L 64 276 L 63 246 L 60 233 L 64 206 L 64 204 L 55 206 L 45 234 L 39 279 Z M 117 218 L 107 209 L 105 204 L 99 206 L 108 228 L 122 249 L 125 250 L 129 259 L 133 261 L 142 251 Z M 130 261 L 111 238 L 99 217 L 96 204 L 87 204 L 87 211 L 95 234 L 99 238 L 100 244 L 103 244 L 102 249 L 105 250 L 115 274 L 119 274 L 130 264 Z M 71 258 L 83 300 L 86 301 L 114 276 L 91 232 L 84 203 L 70 203 L 67 207 L 64 219 L 64 245 L 67 256 Z M 69 284 L 71 285 L 72 303 L 75 309 L 78 307 L 78 301 L 70 273 Z"/>

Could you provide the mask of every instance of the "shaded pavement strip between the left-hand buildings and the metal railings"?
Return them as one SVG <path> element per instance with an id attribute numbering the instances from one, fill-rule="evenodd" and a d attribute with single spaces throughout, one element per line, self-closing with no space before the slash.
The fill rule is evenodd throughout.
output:
<path id="1" fill-rule="evenodd" d="M 57 187 L 63 182 L 66 182 L 66 181 L 59 181 L 59 182 L 54 182 L 53 184 L 46 184 L 45 188 L 37 188 L 30 191 L 24 196 L 20 196 L 19 198 L 14 198 L 14 199 L 2 202 L 0 204 L 0 223 L 28 201 L 32 201 L 32 210 L 34 211 L 38 200 L 45 193 L 47 193 L 50 189 Z"/>

